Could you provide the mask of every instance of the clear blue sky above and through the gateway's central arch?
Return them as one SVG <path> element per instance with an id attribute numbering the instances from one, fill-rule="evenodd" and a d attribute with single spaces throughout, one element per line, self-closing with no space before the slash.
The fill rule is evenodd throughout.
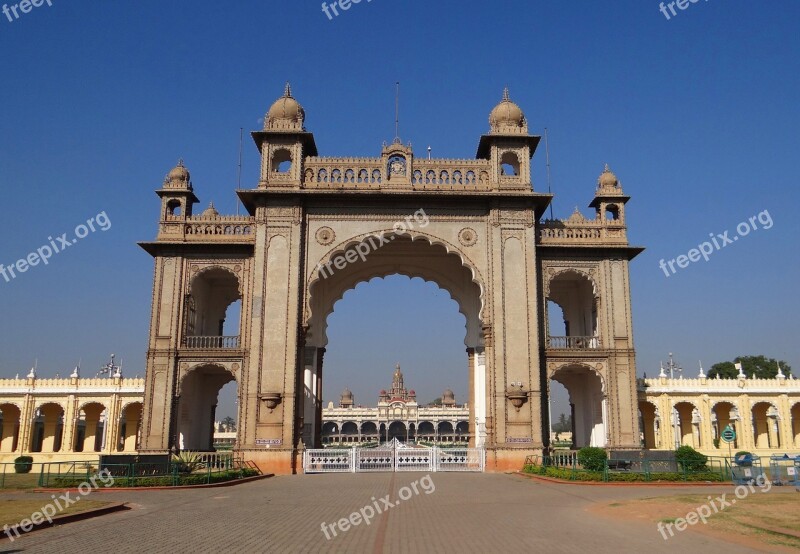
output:
<path id="1" fill-rule="evenodd" d="M 65 2 L 0 14 L 2 235 L 9 265 L 100 212 L 111 221 L 6 283 L 0 375 L 144 371 L 153 190 L 183 157 L 202 206 L 236 210 L 239 128 L 286 80 L 322 155 L 374 156 L 401 130 L 419 154 L 473 157 L 508 85 L 550 132 L 557 217 L 585 214 L 603 163 L 633 199 L 639 373 L 674 351 L 695 374 L 764 353 L 800 370 L 797 132 L 800 4 L 709 0 L 667 20 L 653 0 L 389 2 L 329 20 L 317 0 Z M 792 161 L 795 160 L 795 161 Z M 258 174 L 244 154 L 243 186 Z M 546 190 L 544 151 L 534 187 Z M 760 229 L 665 277 L 662 258 L 768 210 Z M 400 362 L 420 399 L 467 391 L 463 318 L 419 280 L 362 284 L 336 305 L 326 399 L 372 403 Z M 222 403 L 221 414 L 231 410 Z"/>

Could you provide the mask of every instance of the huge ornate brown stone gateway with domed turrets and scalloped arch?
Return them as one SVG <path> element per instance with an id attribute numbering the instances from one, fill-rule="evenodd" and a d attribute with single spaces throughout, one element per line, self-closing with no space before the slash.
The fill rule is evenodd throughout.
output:
<path id="1" fill-rule="evenodd" d="M 593 219 L 543 221 L 552 196 L 530 177 L 540 137 L 507 91 L 471 160 L 419 159 L 399 139 L 379 157 L 323 158 L 304 121 L 287 86 L 253 133 L 261 176 L 237 191 L 246 216 L 195 215 L 183 164 L 157 191 L 158 235 L 142 244 L 155 259 L 143 451 L 209 447 L 217 393 L 235 380 L 236 451 L 302 471 L 321 446 L 328 315 L 392 274 L 436 282 L 466 317 L 470 446 L 489 469 L 546 448 L 551 378 L 570 391 L 581 441 L 639 447 L 628 262 L 641 249 L 613 173 Z M 548 301 L 564 310 L 558 336 Z M 225 332 L 234 302 L 240 322 Z"/>

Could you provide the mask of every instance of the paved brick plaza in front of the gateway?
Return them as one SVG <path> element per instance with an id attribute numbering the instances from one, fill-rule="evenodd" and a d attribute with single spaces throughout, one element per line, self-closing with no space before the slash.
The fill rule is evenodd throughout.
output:
<path id="1" fill-rule="evenodd" d="M 31 533 L 2 552 L 751 552 L 691 530 L 665 542 L 655 525 L 587 512 L 597 502 L 687 489 L 557 485 L 503 474 L 432 473 L 418 495 L 326 540 L 320 529 L 421 473 L 274 477 L 234 487 L 94 493 L 134 509 Z M 432 487 L 428 486 L 430 490 Z M 727 491 L 720 487 L 709 494 Z M 691 489 L 704 494 L 704 488 Z M 18 494 L 3 494 L 9 498 Z M 28 495 L 26 495 L 28 497 Z M 43 503 L 50 495 L 41 495 Z M 380 506 L 382 503 L 378 501 Z"/>

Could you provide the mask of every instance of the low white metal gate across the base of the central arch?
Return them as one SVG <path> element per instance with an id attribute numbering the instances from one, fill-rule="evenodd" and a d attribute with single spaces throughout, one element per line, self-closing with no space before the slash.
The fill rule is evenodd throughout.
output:
<path id="1" fill-rule="evenodd" d="M 484 470 L 483 448 L 405 446 L 396 440 L 377 448 L 321 448 L 303 454 L 305 473 Z"/>

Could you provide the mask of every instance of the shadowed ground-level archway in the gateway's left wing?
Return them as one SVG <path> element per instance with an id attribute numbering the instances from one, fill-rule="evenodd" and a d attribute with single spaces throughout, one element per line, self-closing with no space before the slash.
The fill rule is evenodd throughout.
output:
<path id="1" fill-rule="evenodd" d="M 214 422 L 222 387 L 234 381 L 227 369 L 206 364 L 183 377 L 178 397 L 177 446 L 180 450 L 214 450 Z"/>

